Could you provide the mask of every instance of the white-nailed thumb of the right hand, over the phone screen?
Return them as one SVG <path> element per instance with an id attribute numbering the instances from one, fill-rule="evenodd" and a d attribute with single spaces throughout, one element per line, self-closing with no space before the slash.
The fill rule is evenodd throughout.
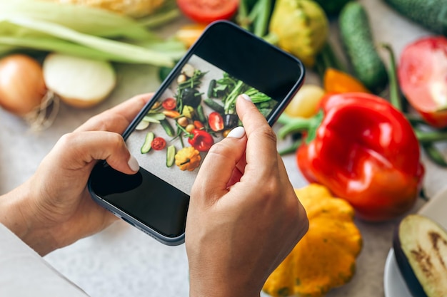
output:
<path id="1" fill-rule="evenodd" d="M 228 184 L 234 183 L 236 178 L 234 174 L 238 172 L 239 161 L 244 159 L 246 143 L 244 128 L 236 127 L 224 140 L 214 144 L 200 167 L 191 197 L 207 197 L 215 201 L 226 194 Z"/>

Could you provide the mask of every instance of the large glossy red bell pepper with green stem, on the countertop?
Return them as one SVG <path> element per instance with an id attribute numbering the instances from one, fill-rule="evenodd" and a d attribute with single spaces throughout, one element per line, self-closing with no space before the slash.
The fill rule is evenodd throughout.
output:
<path id="1" fill-rule="evenodd" d="M 296 151 L 308 182 L 325 185 L 370 222 L 393 219 L 416 202 L 423 179 L 419 142 L 403 113 L 368 93 L 326 95 L 310 120 L 278 131 L 307 130 Z"/>

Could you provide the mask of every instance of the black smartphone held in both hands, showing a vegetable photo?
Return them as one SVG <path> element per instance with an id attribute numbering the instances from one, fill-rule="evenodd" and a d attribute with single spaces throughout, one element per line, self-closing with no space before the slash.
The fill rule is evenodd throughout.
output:
<path id="1" fill-rule="evenodd" d="M 273 125 L 303 78 L 298 59 L 231 22 L 214 22 L 124 132 L 139 172 L 123 174 L 99 162 L 89 179 L 93 199 L 164 244 L 183 243 L 201 162 L 241 125 L 237 95 L 250 95 Z"/>

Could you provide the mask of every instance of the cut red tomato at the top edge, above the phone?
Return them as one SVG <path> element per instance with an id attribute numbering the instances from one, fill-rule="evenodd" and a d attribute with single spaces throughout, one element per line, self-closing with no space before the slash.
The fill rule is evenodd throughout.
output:
<path id="1" fill-rule="evenodd" d="M 239 0 L 177 0 L 183 14 L 197 23 L 231 19 L 238 10 Z"/>

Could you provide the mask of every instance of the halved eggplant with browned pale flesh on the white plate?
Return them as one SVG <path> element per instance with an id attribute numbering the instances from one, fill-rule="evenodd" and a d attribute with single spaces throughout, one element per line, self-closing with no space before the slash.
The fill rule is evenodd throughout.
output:
<path id="1" fill-rule="evenodd" d="M 414 297 L 447 296 L 447 231 L 420 214 L 409 214 L 393 236 L 396 262 Z"/>

